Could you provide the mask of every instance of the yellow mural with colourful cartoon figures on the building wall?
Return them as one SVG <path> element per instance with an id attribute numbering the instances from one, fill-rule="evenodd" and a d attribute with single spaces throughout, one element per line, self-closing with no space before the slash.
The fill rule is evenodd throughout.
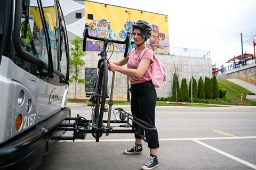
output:
<path id="1" fill-rule="evenodd" d="M 153 28 L 147 46 L 156 54 L 169 54 L 168 16 L 131 8 L 85 1 L 85 23 L 89 23 L 91 36 L 115 40 L 124 40 L 127 32 L 132 31 L 132 24 L 137 20 L 148 21 Z M 131 41 L 133 37 L 131 36 Z M 87 50 L 101 50 L 99 41 L 89 41 Z M 130 45 L 129 49 L 134 45 Z M 114 44 L 114 51 L 123 52 L 124 45 Z"/>

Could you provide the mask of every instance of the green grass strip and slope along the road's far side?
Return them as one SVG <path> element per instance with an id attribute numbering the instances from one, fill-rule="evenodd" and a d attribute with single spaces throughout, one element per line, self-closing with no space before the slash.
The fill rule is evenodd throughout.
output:
<path id="1" fill-rule="evenodd" d="M 243 106 L 256 106 L 256 101 L 246 99 L 246 95 L 250 94 L 251 92 L 233 82 L 224 79 L 217 79 L 218 85 L 222 86 L 227 90 L 226 98 L 225 99 L 215 99 L 217 103 L 221 103 L 222 105 L 240 105 L 241 101 L 241 94 L 243 94 Z M 91 104 L 89 99 L 68 99 L 69 103 L 84 103 L 84 104 Z M 212 99 L 212 101 L 214 101 Z M 220 101 L 220 102 L 219 102 Z M 195 103 L 196 100 L 193 99 L 193 104 L 191 103 L 166 103 L 164 101 L 157 101 L 157 106 L 200 106 L 200 107 L 216 107 L 222 105 L 210 105 L 210 104 L 202 104 L 202 103 Z M 108 100 L 106 101 L 108 104 Z M 124 100 L 114 100 L 115 105 L 130 105 L 130 102 L 126 102 Z M 211 104 L 215 104 L 214 102 Z"/>

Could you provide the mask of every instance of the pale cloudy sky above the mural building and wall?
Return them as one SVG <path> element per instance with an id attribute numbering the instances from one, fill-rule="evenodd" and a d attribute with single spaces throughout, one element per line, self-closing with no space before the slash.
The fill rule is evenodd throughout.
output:
<path id="1" fill-rule="evenodd" d="M 89 0 L 169 16 L 170 47 L 210 51 L 220 68 L 243 53 L 254 54 L 256 0 Z"/>

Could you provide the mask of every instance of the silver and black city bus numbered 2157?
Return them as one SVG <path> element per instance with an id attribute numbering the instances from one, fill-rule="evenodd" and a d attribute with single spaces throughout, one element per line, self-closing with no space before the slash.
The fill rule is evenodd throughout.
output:
<path id="1" fill-rule="evenodd" d="M 65 20 L 59 0 L 1 0 L 0 13 L 0 169 L 36 169 L 70 117 Z"/>

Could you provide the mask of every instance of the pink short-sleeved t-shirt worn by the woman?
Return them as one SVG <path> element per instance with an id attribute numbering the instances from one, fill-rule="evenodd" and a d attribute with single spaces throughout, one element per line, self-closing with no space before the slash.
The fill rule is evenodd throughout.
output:
<path id="1" fill-rule="evenodd" d="M 147 47 L 145 47 L 147 48 Z M 142 58 L 140 57 L 140 53 L 142 52 L 144 48 L 138 50 L 137 52 L 135 52 L 135 50 L 133 50 L 133 52 L 131 52 L 131 50 L 127 53 L 127 58 L 128 58 L 128 63 L 127 63 L 127 68 L 128 69 L 138 69 L 138 66 L 141 62 L 141 60 L 143 58 L 149 58 L 151 60 L 151 63 L 153 63 L 153 51 L 150 48 L 147 48 L 144 53 L 142 54 Z M 150 63 L 150 64 L 151 64 Z M 151 65 L 149 65 L 149 69 L 151 69 Z M 143 83 L 145 81 L 150 81 L 150 75 L 148 74 L 148 72 L 146 71 L 141 78 L 133 78 L 133 77 L 129 77 L 129 80 L 131 82 L 131 84 L 137 84 L 137 83 Z"/>

